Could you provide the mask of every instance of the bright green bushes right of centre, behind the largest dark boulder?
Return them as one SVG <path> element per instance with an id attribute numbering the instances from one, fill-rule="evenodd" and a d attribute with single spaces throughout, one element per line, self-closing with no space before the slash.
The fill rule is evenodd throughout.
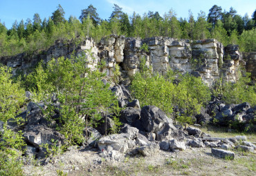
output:
<path id="1" fill-rule="evenodd" d="M 199 113 L 201 107 L 210 99 L 208 86 L 201 79 L 188 74 L 175 77 L 172 70 L 165 77 L 153 75 L 144 62 L 145 60 L 142 61 L 142 69 L 131 82 L 134 97 L 140 100 L 141 106 L 157 106 L 174 120 L 191 124 L 192 116 Z M 178 84 L 174 84 L 174 80 Z"/>

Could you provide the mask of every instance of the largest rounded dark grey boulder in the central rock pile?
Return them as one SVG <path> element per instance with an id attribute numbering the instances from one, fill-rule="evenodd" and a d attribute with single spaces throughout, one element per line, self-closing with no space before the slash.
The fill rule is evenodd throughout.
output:
<path id="1" fill-rule="evenodd" d="M 172 124 L 172 120 L 156 106 L 144 106 L 140 112 L 140 121 L 143 131 L 154 133 L 161 130 L 165 124 Z"/>

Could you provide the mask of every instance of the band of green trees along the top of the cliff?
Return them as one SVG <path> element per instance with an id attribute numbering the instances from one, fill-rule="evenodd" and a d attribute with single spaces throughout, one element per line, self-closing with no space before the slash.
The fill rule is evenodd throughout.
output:
<path id="1" fill-rule="evenodd" d="M 15 21 L 9 30 L 0 23 L 0 57 L 44 50 L 57 39 L 79 42 L 86 37 L 93 37 L 99 41 L 110 34 L 191 40 L 214 38 L 224 46 L 232 43 L 239 44 L 242 51 L 256 50 L 256 10 L 252 18 L 248 14 L 241 17 L 232 7 L 228 12 L 222 11 L 221 6 L 216 5 L 210 8 L 208 15 L 201 11 L 197 19 L 194 19 L 190 10 L 188 19 L 178 19 L 174 10 L 163 17 L 151 11 L 143 16 L 134 12 L 129 17 L 114 4 L 109 19 L 100 19 L 97 9 L 92 5 L 82 10 L 79 19 L 71 16 L 66 20 L 64 14 L 64 9 L 59 5 L 48 19 L 42 20 L 36 13 L 33 21 Z"/>

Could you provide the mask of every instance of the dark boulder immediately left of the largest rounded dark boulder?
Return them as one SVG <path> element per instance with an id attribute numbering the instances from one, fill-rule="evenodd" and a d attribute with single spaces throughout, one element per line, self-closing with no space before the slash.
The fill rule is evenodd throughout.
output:
<path id="1" fill-rule="evenodd" d="M 138 119 L 140 119 L 139 109 L 127 107 L 120 112 L 120 121 L 124 124 L 134 126 Z"/>

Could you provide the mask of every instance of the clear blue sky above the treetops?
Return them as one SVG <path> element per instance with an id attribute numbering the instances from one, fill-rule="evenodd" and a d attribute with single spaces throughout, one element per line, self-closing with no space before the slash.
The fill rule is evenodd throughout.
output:
<path id="1" fill-rule="evenodd" d="M 27 18 L 33 19 L 35 13 L 39 13 L 41 19 L 48 19 L 52 12 L 57 9 L 58 4 L 64 8 L 65 17 L 70 15 L 79 17 L 81 10 L 92 4 L 97 8 L 97 12 L 102 19 L 109 19 L 113 11 L 113 3 L 118 4 L 123 12 L 129 16 L 135 11 L 143 15 L 145 12 L 158 11 L 161 15 L 173 9 L 178 17 L 188 18 L 188 10 L 191 10 L 194 17 L 200 10 L 208 14 L 209 9 L 214 4 L 221 6 L 222 10 L 229 10 L 232 6 L 237 13 L 244 17 L 246 12 L 249 17 L 256 9 L 255 0 L 0 0 L 0 19 L 5 22 L 7 28 L 12 27 L 12 23 Z"/>

